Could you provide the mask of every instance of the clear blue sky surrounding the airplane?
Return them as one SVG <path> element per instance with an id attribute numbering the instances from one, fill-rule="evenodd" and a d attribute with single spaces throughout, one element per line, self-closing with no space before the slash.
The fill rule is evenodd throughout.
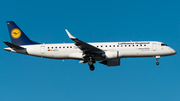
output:
<path id="1" fill-rule="evenodd" d="M 179 101 L 179 0 L 1 0 L 0 101 Z M 40 43 L 161 41 L 177 51 L 107 67 L 5 51 L 6 21 Z"/>

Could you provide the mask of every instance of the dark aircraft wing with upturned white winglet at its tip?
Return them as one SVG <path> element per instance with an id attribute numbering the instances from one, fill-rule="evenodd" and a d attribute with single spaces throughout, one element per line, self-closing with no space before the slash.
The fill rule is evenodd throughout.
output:
<path id="1" fill-rule="evenodd" d="M 75 42 L 75 45 L 80 49 L 82 50 L 83 52 L 85 53 L 104 53 L 103 50 L 91 45 L 91 44 L 88 44 L 86 42 L 83 42 L 81 40 L 79 40 L 78 38 L 72 36 L 67 29 L 65 29 L 66 33 L 68 34 L 69 38 Z"/>

